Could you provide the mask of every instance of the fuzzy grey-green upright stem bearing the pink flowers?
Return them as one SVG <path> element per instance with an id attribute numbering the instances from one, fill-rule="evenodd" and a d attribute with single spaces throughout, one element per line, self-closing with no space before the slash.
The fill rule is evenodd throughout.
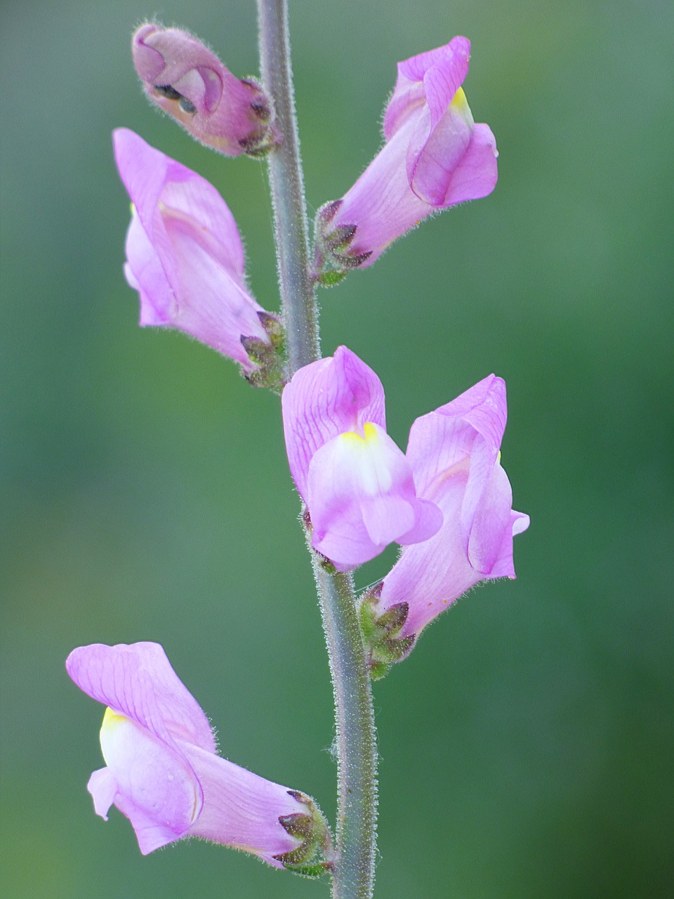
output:
<path id="1" fill-rule="evenodd" d="M 320 358 L 318 310 L 309 265 L 306 204 L 293 100 L 287 0 L 257 0 L 262 82 L 281 134 L 269 154 L 288 377 Z M 377 739 L 368 665 L 350 574 L 329 574 L 314 556 L 336 716 L 337 857 L 333 899 L 371 899 L 377 823 Z"/>

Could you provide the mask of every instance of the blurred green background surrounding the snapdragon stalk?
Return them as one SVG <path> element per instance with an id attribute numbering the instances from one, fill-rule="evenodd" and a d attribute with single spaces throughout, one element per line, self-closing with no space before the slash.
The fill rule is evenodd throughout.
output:
<path id="1" fill-rule="evenodd" d="M 473 41 L 500 181 L 324 291 L 324 353 L 386 387 L 389 430 L 491 371 L 517 582 L 490 583 L 376 685 L 377 896 L 674 895 L 671 33 L 664 0 L 294 0 L 310 210 L 378 147 L 395 62 Z M 102 708 L 75 645 L 153 639 L 232 761 L 332 817 L 332 697 L 278 401 L 122 277 L 125 125 L 204 174 L 277 308 L 263 166 L 151 110 L 129 33 L 156 14 L 257 72 L 253 0 L 2 7 L 2 821 L 8 897 L 327 896 L 213 845 L 142 858 L 95 817 Z M 359 572 L 384 574 L 392 553 Z"/>

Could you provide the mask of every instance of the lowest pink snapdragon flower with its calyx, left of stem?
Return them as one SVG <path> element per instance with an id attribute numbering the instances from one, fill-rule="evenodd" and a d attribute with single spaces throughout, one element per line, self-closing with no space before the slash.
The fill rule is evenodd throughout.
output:
<path id="1" fill-rule="evenodd" d="M 67 672 L 107 706 L 101 728 L 106 767 L 88 790 L 106 821 L 125 814 L 143 855 L 197 836 L 252 852 L 277 868 L 329 850 L 313 801 L 216 752 L 208 719 L 156 643 L 74 649 Z M 320 862 L 319 862 L 320 865 Z"/>

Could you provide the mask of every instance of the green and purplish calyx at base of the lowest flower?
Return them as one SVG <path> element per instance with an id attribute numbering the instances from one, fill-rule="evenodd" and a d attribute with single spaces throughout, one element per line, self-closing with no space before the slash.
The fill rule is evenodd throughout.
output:
<path id="1" fill-rule="evenodd" d="M 281 814 L 281 827 L 300 841 L 299 845 L 288 852 L 275 855 L 284 868 L 303 877 L 320 877 L 333 866 L 333 835 L 320 808 L 311 797 L 288 790 L 290 796 L 306 806 L 306 813 Z"/>

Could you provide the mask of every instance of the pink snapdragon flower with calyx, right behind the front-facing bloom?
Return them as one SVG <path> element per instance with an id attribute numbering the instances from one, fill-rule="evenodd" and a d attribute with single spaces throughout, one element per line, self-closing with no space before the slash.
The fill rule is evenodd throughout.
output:
<path id="1" fill-rule="evenodd" d="M 505 424 L 505 383 L 495 375 L 412 424 L 407 459 L 417 493 L 439 506 L 443 523 L 424 543 L 404 547 L 383 583 L 363 598 L 376 674 L 407 654 L 421 629 L 474 584 L 515 577 L 512 539 L 529 518 L 513 511 L 501 467 Z"/>

